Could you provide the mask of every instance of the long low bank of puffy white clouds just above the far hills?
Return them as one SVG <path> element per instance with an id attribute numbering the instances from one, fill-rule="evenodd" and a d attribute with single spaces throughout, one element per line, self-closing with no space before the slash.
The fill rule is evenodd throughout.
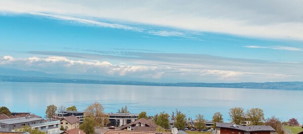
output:
<path id="1" fill-rule="evenodd" d="M 184 56 L 182 56 L 185 58 Z M 165 59 L 165 57 L 163 57 Z M 180 59 L 180 58 L 178 58 Z M 218 60 L 218 59 L 217 59 Z M 70 74 L 91 74 L 91 75 L 102 75 L 102 76 L 115 76 L 124 78 L 136 78 L 137 80 L 149 79 L 149 80 L 160 80 L 163 79 L 168 81 L 191 81 L 191 82 L 236 82 L 236 81 L 267 81 L 274 80 L 279 81 L 281 79 L 293 78 L 295 75 L 283 74 L 283 73 L 256 73 L 254 70 L 251 71 L 238 71 L 230 70 L 227 67 L 216 67 L 207 69 L 201 65 L 195 65 L 193 63 L 183 63 L 182 66 L 178 63 L 170 63 L 167 65 L 161 65 L 162 63 L 153 65 L 148 61 L 141 61 L 146 65 L 115 65 L 108 61 L 98 60 L 72 60 L 66 57 L 51 56 L 47 58 L 29 57 L 29 58 L 14 58 L 12 56 L 4 56 L 0 58 L 0 67 L 10 67 L 21 70 L 34 70 L 44 71 L 47 73 L 70 73 Z M 220 62 L 220 60 L 218 61 Z M 212 64 L 212 63 L 203 63 Z M 245 64 L 245 63 L 243 63 Z M 282 63 L 280 63 L 282 64 Z M 212 65 L 207 65 L 212 66 Z M 250 66 L 250 65 L 248 65 Z M 233 67 L 235 68 L 235 66 Z M 243 67 L 245 68 L 245 67 Z M 275 70 L 275 69 L 273 69 Z M 262 72 L 262 71 L 261 71 Z M 275 72 L 275 71 L 274 71 Z M 296 71 L 298 74 L 302 72 Z M 297 78 L 297 77 L 295 77 Z"/>

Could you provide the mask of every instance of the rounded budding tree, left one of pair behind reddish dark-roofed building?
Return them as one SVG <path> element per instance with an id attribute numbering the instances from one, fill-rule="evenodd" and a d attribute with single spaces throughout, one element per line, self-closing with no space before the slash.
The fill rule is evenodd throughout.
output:
<path id="1" fill-rule="evenodd" d="M 230 109 L 230 118 L 233 123 L 241 124 L 243 122 L 244 109 L 240 107 L 235 107 Z"/>

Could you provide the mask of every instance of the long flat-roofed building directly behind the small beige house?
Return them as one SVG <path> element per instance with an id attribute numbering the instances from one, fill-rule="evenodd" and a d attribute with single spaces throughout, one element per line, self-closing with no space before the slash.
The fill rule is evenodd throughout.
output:
<path id="1" fill-rule="evenodd" d="M 58 119 L 58 120 L 62 120 L 65 117 L 74 115 L 75 117 L 77 117 L 78 119 L 80 119 L 80 124 L 82 124 L 83 120 L 84 120 L 84 112 L 82 111 L 61 111 L 56 113 L 56 115 L 53 116 L 54 119 Z"/>

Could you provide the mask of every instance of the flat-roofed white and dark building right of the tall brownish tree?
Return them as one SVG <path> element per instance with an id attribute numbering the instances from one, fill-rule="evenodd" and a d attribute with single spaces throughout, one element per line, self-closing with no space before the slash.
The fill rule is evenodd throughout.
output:
<path id="1" fill-rule="evenodd" d="M 121 127 L 138 119 L 139 114 L 131 113 L 106 113 L 109 119 L 109 126 Z"/>

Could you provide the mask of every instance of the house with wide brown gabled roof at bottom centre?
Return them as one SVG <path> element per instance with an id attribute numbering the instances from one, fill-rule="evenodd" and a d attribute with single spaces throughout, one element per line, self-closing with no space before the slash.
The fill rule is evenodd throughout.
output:
<path id="1" fill-rule="evenodd" d="M 145 118 L 138 119 L 134 122 L 128 123 L 120 128 L 120 130 L 133 130 L 135 126 L 145 126 L 145 127 L 158 127 L 152 120 L 147 120 Z"/>

